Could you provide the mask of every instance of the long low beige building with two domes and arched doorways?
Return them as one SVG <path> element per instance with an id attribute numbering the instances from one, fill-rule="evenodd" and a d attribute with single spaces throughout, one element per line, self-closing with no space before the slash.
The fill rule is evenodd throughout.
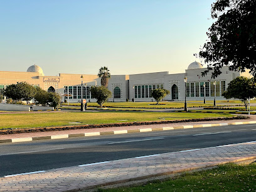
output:
<path id="1" fill-rule="evenodd" d="M 109 101 L 124 102 L 126 99 L 134 99 L 137 102 L 152 101 L 151 90 L 155 88 L 166 88 L 171 93 L 165 100 L 184 100 L 186 77 L 186 99 L 187 100 L 223 100 L 221 96 L 230 81 L 239 76 L 250 77 L 250 73 L 232 72 L 228 67 L 222 68 L 222 73 L 215 80 L 211 79 L 210 73 L 201 77 L 205 71 L 197 61 L 191 63 L 185 73 L 169 74 L 169 72 L 141 73 L 134 75 L 112 75 L 109 80 L 109 90 L 112 98 Z M 81 85 L 83 75 L 83 86 Z M 39 86 L 48 92 L 59 92 L 64 95 L 69 93 L 70 97 L 64 97 L 69 102 L 80 102 L 81 95 L 88 102 L 95 102 L 90 94 L 90 87 L 100 85 L 97 75 L 67 74 L 60 73 L 58 76 L 45 76 L 41 67 L 32 65 L 27 72 L 4 72 L 0 71 L 0 90 L 17 82 L 27 82 Z M 215 85 L 214 85 L 215 84 Z M 1 99 L 3 95 L 0 95 Z"/>

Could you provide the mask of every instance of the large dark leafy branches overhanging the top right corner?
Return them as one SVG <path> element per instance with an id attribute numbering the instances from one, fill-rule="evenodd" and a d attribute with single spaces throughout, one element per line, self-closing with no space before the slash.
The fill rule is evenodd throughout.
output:
<path id="1" fill-rule="evenodd" d="M 256 1 L 216 0 L 211 4 L 211 18 L 216 21 L 208 29 L 208 40 L 200 51 L 207 63 L 206 75 L 221 74 L 221 68 L 256 75 Z"/>

